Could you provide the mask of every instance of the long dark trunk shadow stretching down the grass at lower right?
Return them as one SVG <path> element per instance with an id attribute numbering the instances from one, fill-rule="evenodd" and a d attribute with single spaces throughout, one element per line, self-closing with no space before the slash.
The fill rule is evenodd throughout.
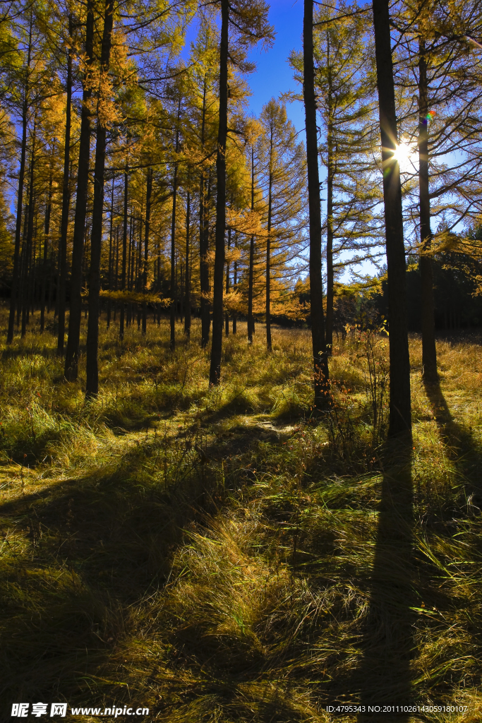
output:
<path id="1" fill-rule="evenodd" d="M 359 723 L 388 723 L 392 718 L 401 723 L 411 717 L 396 709 L 383 712 L 383 706 L 408 706 L 413 702 L 410 660 L 416 620 L 412 608 L 416 602 L 411 451 L 411 445 L 392 441 L 382 460 L 369 612 L 361 633 L 363 657 L 350 682 L 351 697 L 366 708 L 358 715 Z"/>

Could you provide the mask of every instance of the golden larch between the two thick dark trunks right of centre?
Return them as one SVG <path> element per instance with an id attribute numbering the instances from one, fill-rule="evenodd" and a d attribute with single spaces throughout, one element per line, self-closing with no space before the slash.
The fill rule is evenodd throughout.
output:
<path id="1" fill-rule="evenodd" d="M 366 14 L 337 3 L 320 7 L 315 20 L 315 87 L 326 169 L 326 344 L 331 354 L 337 273 L 347 264 L 373 260 L 379 246 L 375 209 L 381 198 L 372 153 L 376 82 Z"/>

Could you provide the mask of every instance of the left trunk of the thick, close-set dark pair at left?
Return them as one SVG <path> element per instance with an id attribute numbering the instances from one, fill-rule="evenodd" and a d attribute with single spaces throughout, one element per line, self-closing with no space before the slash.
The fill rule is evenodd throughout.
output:
<path id="1" fill-rule="evenodd" d="M 90 163 L 90 111 L 88 103 L 92 95 L 89 87 L 90 64 L 92 63 L 94 41 L 94 14 L 92 0 L 87 2 L 85 27 L 85 72 L 80 115 L 79 165 L 77 168 L 77 198 L 74 215 L 74 237 L 72 241 L 72 273 L 70 275 L 69 335 L 65 354 L 65 378 L 69 382 L 79 375 L 80 324 L 82 320 L 82 256 L 84 252 L 85 219 L 87 216 L 87 194 Z"/>

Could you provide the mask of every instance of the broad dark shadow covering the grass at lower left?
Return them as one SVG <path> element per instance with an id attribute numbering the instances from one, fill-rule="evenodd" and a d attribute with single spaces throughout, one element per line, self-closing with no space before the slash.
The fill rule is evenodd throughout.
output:
<path id="1" fill-rule="evenodd" d="M 165 586 L 184 530 L 222 492 L 194 451 L 173 440 L 167 454 L 151 438 L 109 467 L 0 504 L 1 709 L 82 705 L 104 689 L 125 697 L 115 680 L 100 693 L 99 671 L 119 655 L 131 611 Z"/>

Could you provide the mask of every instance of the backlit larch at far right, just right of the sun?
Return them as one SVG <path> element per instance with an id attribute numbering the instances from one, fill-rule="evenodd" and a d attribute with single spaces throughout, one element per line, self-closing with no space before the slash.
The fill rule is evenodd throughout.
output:
<path id="1" fill-rule="evenodd" d="M 401 98 L 417 101 L 405 100 L 400 136 L 418 146 L 418 163 L 406 174 L 408 184 L 418 176 L 418 197 L 413 188 L 408 215 L 419 239 L 422 375 L 434 383 L 433 256 L 447 232 L 480 213 L 482 136 L 475 117 L 482 100 L 481 48 L 471 34 L 481 35 L 482 12 L 476 2 L 452 7 L 408 2 L 395 26 L 398 90 Z M 437 217 L 438 239 L 431 224 Z"/>

